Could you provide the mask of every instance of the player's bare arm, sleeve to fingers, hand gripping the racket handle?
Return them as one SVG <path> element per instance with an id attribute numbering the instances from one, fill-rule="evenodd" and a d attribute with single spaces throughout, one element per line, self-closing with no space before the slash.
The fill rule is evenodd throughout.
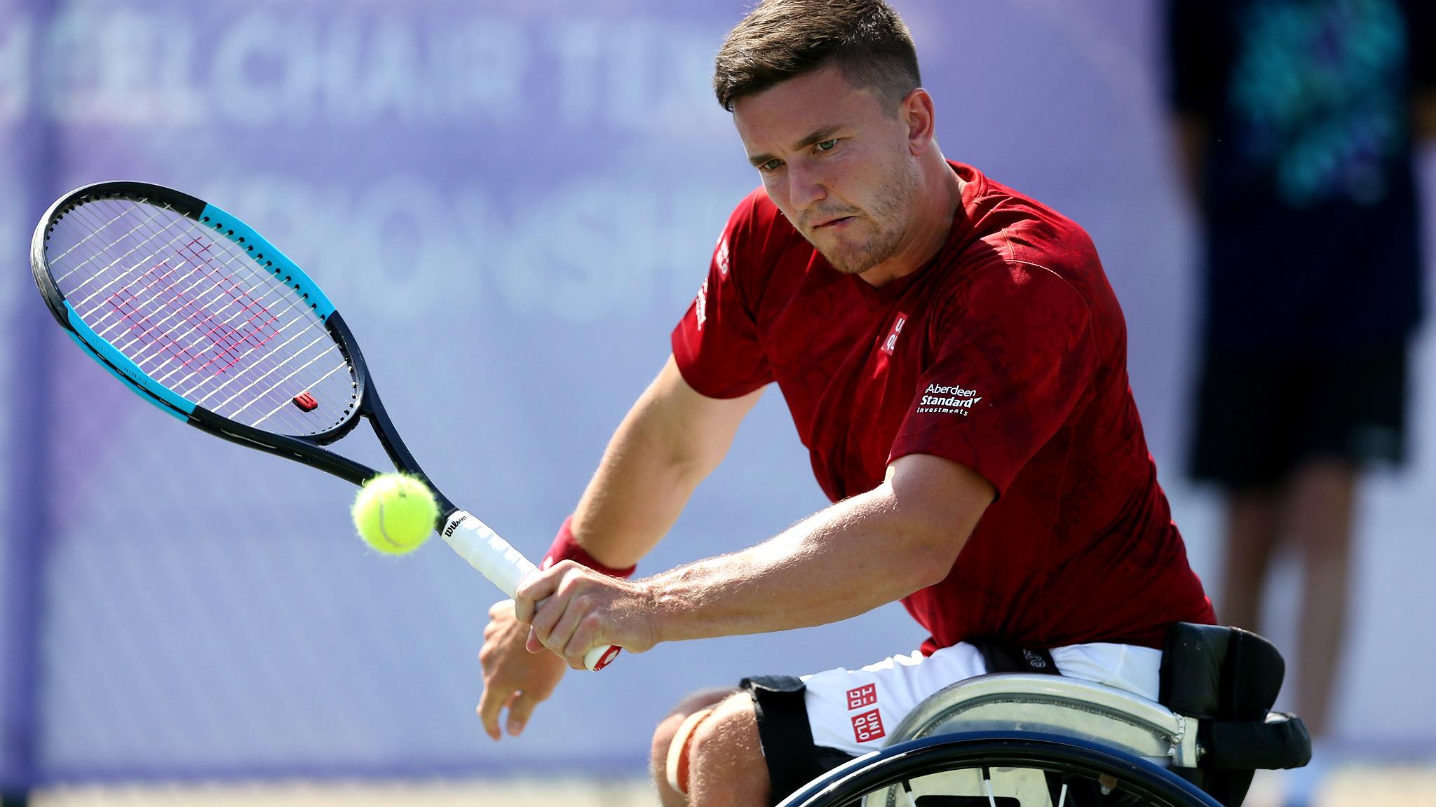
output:
<path id="1" fill-rule="evenodd" d="M 533 625 L 530 650 L 541 645 L 574 668 L 597 646 L 643 652 L 837 622 L 946 577 L 995 495 L 958 462 L 909 454 L 872 491 L 740 553 L 642 580 L 557 563 L 518 586 L 514 617 Z"/>

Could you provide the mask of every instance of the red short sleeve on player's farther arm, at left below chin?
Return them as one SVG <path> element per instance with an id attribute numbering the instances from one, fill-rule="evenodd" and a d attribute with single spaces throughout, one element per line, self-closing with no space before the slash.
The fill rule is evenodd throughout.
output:
<path id="1" fill-rule="evenodd" d="M 709 398 L 738 398 L 773 381 L 748 300 L 761 280 L 757 194 L 734 210 L 714 247 L 708 277 L 673 329 L 673 360 L 688 386 Z"/>

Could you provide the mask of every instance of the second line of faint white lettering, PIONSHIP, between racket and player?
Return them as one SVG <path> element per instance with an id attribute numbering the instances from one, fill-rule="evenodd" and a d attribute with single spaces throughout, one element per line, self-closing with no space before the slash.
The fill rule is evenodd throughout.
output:
<path id="1" fill-rule="evenodd" d="M 195 192 L 244 211 L 346 313 L 401 323 L 431 313 L 437 293 L 570 323 L 651 320 L 691 299 L 714 217 L 732 204 L 722 190 L 620 177 L 503 205 L 482 185 L 406 174 L 363 187 L 246 175 Z"/>

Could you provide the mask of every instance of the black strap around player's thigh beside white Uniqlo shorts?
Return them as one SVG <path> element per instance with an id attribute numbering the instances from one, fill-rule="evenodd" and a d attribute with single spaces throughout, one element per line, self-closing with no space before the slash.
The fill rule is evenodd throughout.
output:
<path id="1" fill-rule="evenodd" d="M 791 675 L 755 675 L 738 686 L 752 694 L 758 741 L 768 765 L 768 803 L 777 804 L 827 770 L 819 761 L 803 701 L 807 685 Z"/>

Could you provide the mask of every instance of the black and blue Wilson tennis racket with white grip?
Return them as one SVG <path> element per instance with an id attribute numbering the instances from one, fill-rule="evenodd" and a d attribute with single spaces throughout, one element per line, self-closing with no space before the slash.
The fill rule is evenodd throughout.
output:
<path id="1" fill-rule="evenodd" d="M 148 182 L 86 185 L 46 211 L 30 269 L 75 342 L 161 411 L 356 485 L 379 471 L 325 447 L 366 418 L 395 468 L 434 491 L 454 551 L 510 597 L 534 572 L 429 481 L 333 303 L 238 218 Z M 593 648 L 584 665 L 617 653 Z"/>

